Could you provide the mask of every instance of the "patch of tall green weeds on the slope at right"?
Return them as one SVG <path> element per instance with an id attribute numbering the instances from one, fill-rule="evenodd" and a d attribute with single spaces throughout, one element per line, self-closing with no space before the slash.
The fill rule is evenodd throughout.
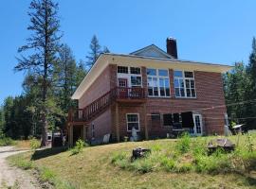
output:
<path id="1" fill-rule="evenodd" d="M 219 174 L 246 173 L 256 170 L 256 151 L 244 147 L 247 144 L 247 136 L 241 136 L 241 143 L 235 151 L 226 152 L 218 148 L 209 155 L 207 144 L 210 139 L 211 137 L 190 138 L 184 134 L 177 139 L 174 146 L 159 144 L 155 141 L 148 146 L 152 152 L 146 157 L 131 161 L 131 151 L 120 151 L 113 153 L 111 163 L 122 169 L 140 173 L 164 170 L 174 173 L 193 171 Z M 253 137 L 250 140 L 250 144 L 255 144 Z"/>

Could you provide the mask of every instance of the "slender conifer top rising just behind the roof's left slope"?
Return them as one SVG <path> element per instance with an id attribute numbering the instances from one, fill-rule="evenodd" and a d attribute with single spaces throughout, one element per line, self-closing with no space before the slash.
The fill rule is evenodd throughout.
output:
<path id="1" fill-rule="evenodd" d="M 88 54 L 89 55 L 86 56 L 86 59 L 87 59 L 86 65 L 88 68 L 91 68 L 101 54 L 101 45 L 96 35 L 94 35 L 91 40 L 90 51 L 88 52 Z"/>

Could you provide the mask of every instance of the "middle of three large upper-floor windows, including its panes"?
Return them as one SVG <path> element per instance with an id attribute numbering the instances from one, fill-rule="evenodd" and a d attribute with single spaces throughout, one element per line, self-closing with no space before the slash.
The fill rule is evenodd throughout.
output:
<path id="1" fill-rule="evenodd" d="M 170 81 L 168 70 L 148 68 L 147 76 L 149 96 L 170 96 Z"/>

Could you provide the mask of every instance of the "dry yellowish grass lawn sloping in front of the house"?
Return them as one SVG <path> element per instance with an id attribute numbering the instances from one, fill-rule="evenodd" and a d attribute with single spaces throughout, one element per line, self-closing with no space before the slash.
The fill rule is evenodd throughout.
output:
<path id="1" fill-rule="evenodd" d="M 200 140 L 209 141 L 210 138 L 212 137 L 203 137 Z M 233 142 L 237 141 L 236 136 L 229 138 Z M 193 143 L 197 140 L 199 139 L 192 139 Z M 244 146 L 245 141 L 245 136 L 241 136 L 240 146 Z M 255 147 L 255 137 L 252 138 L 252 143 Z M 153 171 L 141 173 L 136 169 L 121 168 L 118 163 L 113 163 L 115 154 L 130 155 L 131 150 L 137 146 L 150 148 L 160 146 L 157 150 L 163 151 L 165 148 L 174 149 L 176 144 L 174 139 L 163 139 L 89 146 L 83 148 L 82 152 L 77 155 L 71 155 L 70 150 L 62 148 L 45 149 L 12 156 L 9 157 L 9 161 L 23 168 L 36 167 L 36 169 L 43 170 L 41 178 L 51 180 L 56 188 L 256 188 L 255 169 L 243 173 L 210 174 L 196 171 L 177 173 L 165 171 L 160 168 L 160 165 L 153 164 Z M 64 184 L 58 182 L 64 182 Z"/>

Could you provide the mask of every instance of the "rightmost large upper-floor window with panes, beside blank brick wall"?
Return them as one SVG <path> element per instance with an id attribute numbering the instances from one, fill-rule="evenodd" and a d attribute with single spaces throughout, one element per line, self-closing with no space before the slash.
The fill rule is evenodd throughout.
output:
<path id="1" fill-rule="evenodd" d="M 174 89 L 176 97 L 195 97 L 193 73 L 174 71 Z"/>

